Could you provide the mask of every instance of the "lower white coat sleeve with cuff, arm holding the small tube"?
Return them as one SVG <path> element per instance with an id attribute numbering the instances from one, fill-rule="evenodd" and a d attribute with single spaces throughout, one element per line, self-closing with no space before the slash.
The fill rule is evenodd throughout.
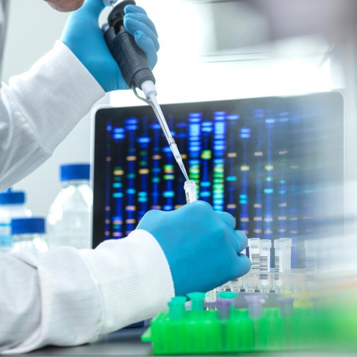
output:
<path id="1" fill-rule="evenodd" d="M 96 249 L 0 257 L 0 353 L 74 346 L 147 319 L 174 296 L 169 264 L 143 230 Z"/>

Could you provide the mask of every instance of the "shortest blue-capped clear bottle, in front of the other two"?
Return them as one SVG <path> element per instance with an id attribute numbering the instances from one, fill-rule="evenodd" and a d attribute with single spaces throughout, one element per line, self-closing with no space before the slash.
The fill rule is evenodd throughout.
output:
<path id="1" fill-rule="evenodd" d="M 11 221 L 13 252 L 32 250 L 44 253 L 48 250 L 45 239 L 45 218 L 14 218 Z"/>

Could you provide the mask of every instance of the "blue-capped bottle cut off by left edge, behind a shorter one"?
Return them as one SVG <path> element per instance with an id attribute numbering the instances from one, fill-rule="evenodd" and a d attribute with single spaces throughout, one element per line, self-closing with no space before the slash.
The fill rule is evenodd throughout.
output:
<path id="1" fill-rule="evenodd" d="M 31 217 L 31 211 L 25 205 L 25 192 L 9 188 L 0 193 L 0 255 L 12 249 L 11 219 L 17 217 Z"/>

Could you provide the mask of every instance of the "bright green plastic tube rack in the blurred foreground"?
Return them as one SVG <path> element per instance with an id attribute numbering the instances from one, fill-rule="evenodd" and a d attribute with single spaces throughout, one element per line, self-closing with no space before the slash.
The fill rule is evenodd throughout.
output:
<path id="1" fill-rule="evenodd" d="M 152 342 L 155 355 L 302 351 L 321 346 L 326 349 L 335 346 L 335 329 L 341 323 L 340 311 L 334 312 L 339 318 L 333 321 L 329 309 L 313 307 L 295 307 L 292 315 L 286 315 L 286 308 L 263 307 L 261 316 L 251 317 L 249 309 L 234 308 L 232 304 L 229 316 L 222 318 L 219 310 L 203 308 L 204 294 L 188 297 L 191 310 L 185 309 L 185 297 L 174 297 L 169 302 L 169 312 L 160 312 L 142 335 L 143 342 Z M 356 323 L 353 325 L 356 331 Z"/>

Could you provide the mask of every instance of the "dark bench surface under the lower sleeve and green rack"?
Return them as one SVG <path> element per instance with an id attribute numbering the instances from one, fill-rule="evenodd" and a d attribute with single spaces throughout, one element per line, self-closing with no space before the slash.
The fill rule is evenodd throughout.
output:
<path id="1" fill-rule="evenodd" d="M 31 352 L 21 356 L 38 356 L 38 357 L 71 357 L 71 356 L 88 356 L 88 357 L 105 357 L 105 356 L 152 356 L 151 344 L 142 343 L 140 336 L 147 327 L 123 329 L 103 336 L 99 341 L 93 344 L 82 345 L 77 347 L 46 347 L 41 350 Z M 18 355 L 17 355 L 18 356 Z M 222 355 L 221 355 L 222 356 Z M 232 356 L 232 355 L 231 355 Z M 238 355 L 242 356 L 242 355 Z M 254 357 L 254 355 L 247 355 Z M 261 356 L 293 356 L 293 357 L 326 357 L 336 356 L 334 353 L 277 353 L 262 354 Z M 341 355 L 342 356 L 342 355 Z M 343 354 L 343 356 L 353 356 Z M 355 355 L 356 356 L 356 355 Z"/>

